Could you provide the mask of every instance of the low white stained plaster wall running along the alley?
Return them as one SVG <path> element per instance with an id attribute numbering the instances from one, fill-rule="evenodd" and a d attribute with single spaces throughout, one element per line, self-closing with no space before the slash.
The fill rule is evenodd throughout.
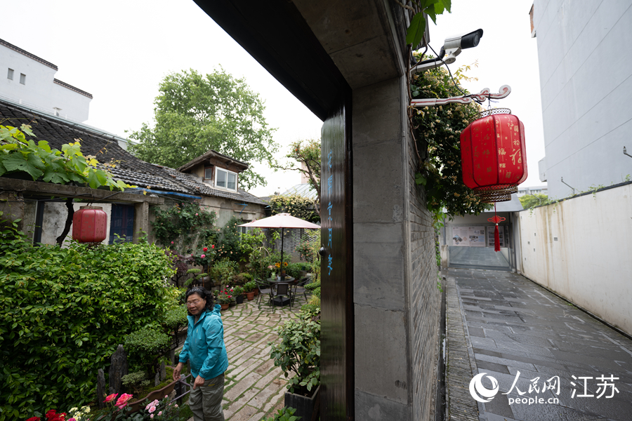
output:
<path id="1" fill-rule="evenodd" d="M 631 184 L 523 210 L 518 222 L 522 274 L 632 333 Z"/>

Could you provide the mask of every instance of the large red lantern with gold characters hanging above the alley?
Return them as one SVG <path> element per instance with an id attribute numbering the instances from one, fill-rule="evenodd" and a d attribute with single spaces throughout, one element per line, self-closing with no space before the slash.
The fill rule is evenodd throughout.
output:
<path id="1" fill-rule="evenodd" d="M 486 203 L 511 200 L 527 179 L 525 126 L 506 108 L 491 109 L 461 133 L 463 183 Z"/>

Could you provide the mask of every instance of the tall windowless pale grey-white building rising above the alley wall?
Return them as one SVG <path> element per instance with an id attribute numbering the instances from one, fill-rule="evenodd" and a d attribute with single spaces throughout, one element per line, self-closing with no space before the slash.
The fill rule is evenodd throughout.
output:
<path id="1" fill-rule="evenodd" d="M 626 180 L 632 174 L 632 159 L 623 153 L 624 146 L 632 150 L 632 1 L 535 0 L 531 15 L 546 152 L 539 174 L 548 196 Z"/>

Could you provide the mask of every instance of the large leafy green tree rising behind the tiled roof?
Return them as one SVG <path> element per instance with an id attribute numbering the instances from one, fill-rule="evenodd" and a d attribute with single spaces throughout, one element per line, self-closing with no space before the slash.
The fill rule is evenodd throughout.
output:
<path id="1" fill-rule="evenodd" d="M 130 151 L 145 161 L 178 168 L 214 149 L 246 163 L 270 163 L 279 148 L 258 93 L 221 68 L 206 75 L 190 69 L 165 76 L 154 104 L 153 127 L 143 123 L 129 135 L 138 140 Z M 239 181 L 246 189 L 266 184 L 252 169 Z"/>

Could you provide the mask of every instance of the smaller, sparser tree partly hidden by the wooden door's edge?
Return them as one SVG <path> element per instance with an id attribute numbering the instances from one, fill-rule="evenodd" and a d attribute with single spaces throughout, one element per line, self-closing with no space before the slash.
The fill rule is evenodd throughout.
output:
<path id="1" fill-rule="evenodd" d="M 315 206 L 320 215 L 320 139 L 297 140 L 290 145 L 285 157 L 292 161 L 285 165 L 272 163 L 272 168 L 298 171 L 307 176 L 310 186 L 316 190 Z"/>

